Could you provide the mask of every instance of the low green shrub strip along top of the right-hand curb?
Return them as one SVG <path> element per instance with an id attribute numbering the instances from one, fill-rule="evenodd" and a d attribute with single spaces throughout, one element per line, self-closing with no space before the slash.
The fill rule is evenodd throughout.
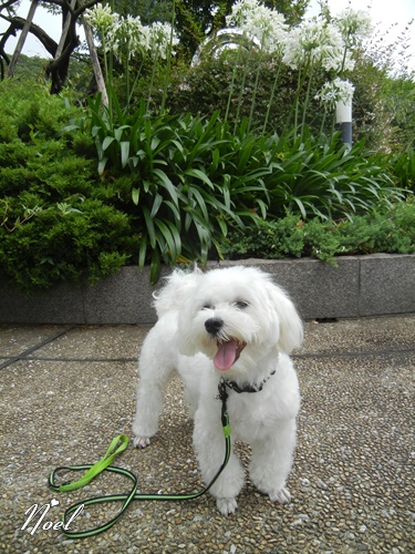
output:
<path id="1" fill-rule="evenodd" d="M 334 256 L 342 255 L 414 254 L 414 196 L 353 220 L 303 220 L 290 214 L 278 220 L 261 222 L 246 233 L 235 230 L 220 247 L 229 259 L 312 256 L 334 261 Z"/>

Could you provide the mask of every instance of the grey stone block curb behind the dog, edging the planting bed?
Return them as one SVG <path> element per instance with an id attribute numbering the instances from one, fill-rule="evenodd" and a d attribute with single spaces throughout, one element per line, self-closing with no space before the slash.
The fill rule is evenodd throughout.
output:
<path id="1" fill-rule="evenodd" d="M 303 319 L 356 318 L 415 312 L 415 255 L 374 254 L 317 259 L 247 259 L 208 267 L 258 266 L 289 291 Z M 162 275 L 168 275 L 164 268 Z M 25 296 L 0 284 L 1 324 L 151 325 L 149 270 L 124 267 L 92 287 L 60 285 Z"/>

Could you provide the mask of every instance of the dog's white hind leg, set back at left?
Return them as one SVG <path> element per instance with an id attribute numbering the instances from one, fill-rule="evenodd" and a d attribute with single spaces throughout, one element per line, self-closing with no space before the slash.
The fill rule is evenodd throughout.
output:
<path id="1" fill-rule="evenodd" d="M 158 431 L 164 387 L 176 369 L 176 349 L 168 336 L 165 318 L 148 332 L 138 363 L 136 412 L 133 421 L 134 447 L 145 448 Z M 167 321 L 168 324 L 168 321 Z"/>

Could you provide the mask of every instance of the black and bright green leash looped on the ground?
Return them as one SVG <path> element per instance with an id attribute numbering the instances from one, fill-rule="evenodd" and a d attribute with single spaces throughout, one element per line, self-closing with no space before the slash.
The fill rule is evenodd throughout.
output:
<path id="1" fill-rule="evenodd" d="M 102 533 L 103 531 L 108 530 L 112 527 L 124 514 L 128 505 L 135 501 L 135 500 L 141 500 L 141 501 L 148 501 L 148 500 L 156 500 L 156 501 L 183 501 L 183 500 L 195 500 L 205 494 L 216 482 L 216 480 L 219 478 L 220 473 L 224 471 L 225 466 L 227 465 L 231 452 L 231 442 L 230 442 L 230 425 L 229 425 L 229 417 L 227 412 L 227 399 L 228 399 L 228 393 L 226 391 L 226 383 L 221 379 L 219 381 L 219 399 L 221 400 L 221 423 L 222 423 L 222 431 L 224 431 L 224 437 L 225 437 L 225 459 L 219 468 L 218 472 L 214 476 L 214 479 L 210 481 L 210 483 L 201 491 L 199 492 L 193 492 L 193 493 L 180 493 L 180 494 L 138 494 L 137 493 L 137 478 L 134 475 L 128 470 L 125 470 L 123 468 L 118 468 L 116 465 L 111 465 L 113 460 L 124 452 L 124 450 L 128 445 L 128 438 L 125 434 L 120 434 L 118 437 L 115 437 L 110 447 L 108 450 L 106 451 L 105 455 L 95 464 L 85 464 L 85 465 L 62 465 L 60 468 L 56 468 L 52 471 L 52 473 L 49 475 L 49 486 L 56 492 L 69 492 L 69 491 L 75 491 L 76 489 L 81 489 L 82 486 L 85 486 L 92 479 L 94 479 L 96 475 L 98 475 L 103 471 L 108 471 L 111 473 L 117 473 L 118 475 L 124 475 L 127 479 L 129 479 L 133 482 L 133 486 L 129 490 L 127 494 L 108 494 L 105 496 L 94 496 L 92 499 L 86 499 L 81 502 L 76 502 L 75 504 L 72 504 L 64 513 L 63 515 L 63 527 L 62 532 L 70 538 L 84 538 L 86 536 L 93 536 L 97 535 L 98 533 Z M 118 445 L 118 443 L 121 443 Z M 69 483 L 63 483 L 61 485 L 55 484 L 55 476 L 56 473 L 60 471 L 85 471 L 86 472 L 82 475 L 82 478 L 77 481 L 69 482 Z M 86 506 L 91 506 L 93 504 L 101 504 L 105 502 L 123 502 L 123 505 L 120 509 L 120 512 L 108 522 L 104 523 L 103 525 L 98 525 L 97 527 L 93 527 L 91 530 L 86 531 L 71 531 L 69 529 L 69 523 L 71 523 L 71 516 L 74 517 L 76 511 L 82 511 Z"/>

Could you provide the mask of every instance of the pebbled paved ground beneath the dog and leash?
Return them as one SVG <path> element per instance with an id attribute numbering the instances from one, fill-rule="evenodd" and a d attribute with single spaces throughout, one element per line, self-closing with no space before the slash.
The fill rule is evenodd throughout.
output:
<path id="1" fill-rule="evenodd" d="M 411 553 L 415 552 L 415 317 L 307 324 L 295 353 L 302 409 L 287 506 L 248 482 L 236 514 L 215 502 L 134 502 L 110 531 L 68 540 L 60 531 L 22 531 L 25 512 L 52 499 L 44 521 L 85 497 L 124 492 L 103 475 L 82 491 L 52 493 L 58 465 L 93 463 L 118 433 L 131 434 L 136 359 L 145 327 L 0 326 L 0 550 L 6 553 Z M 247 460 L 249 449 L 238 444 Z M 128 447 L 117 464 L 138 474 L 141 492 L 201 486 L 181 384 L 167 389 L 160 433 Z M 92 526 L 114 506 L 83 512 Z M 100 519 L 101 517 L 101 519 Z"/>

